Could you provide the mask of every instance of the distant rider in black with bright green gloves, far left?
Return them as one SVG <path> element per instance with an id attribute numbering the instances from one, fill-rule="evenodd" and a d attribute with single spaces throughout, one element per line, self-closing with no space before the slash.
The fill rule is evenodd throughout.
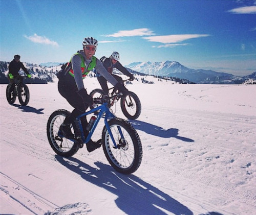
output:
<path id="1" fill-rule="evenodd" d="M 31 78 L 31 75 L 29 74 L 27 68 L 24 66 L 24 64 L 22 62 L 19 61 L 19 59 L 20 59 L 19 55 L 14 55 L 14 59 L 9 64 L 8 79 L 11 84 L 14 83 L 14 78 L 20 78 L 20 75 L 18 73 L 20 68 L 22 68 L 23 71 L 25 71 L 28 78 Z"/>

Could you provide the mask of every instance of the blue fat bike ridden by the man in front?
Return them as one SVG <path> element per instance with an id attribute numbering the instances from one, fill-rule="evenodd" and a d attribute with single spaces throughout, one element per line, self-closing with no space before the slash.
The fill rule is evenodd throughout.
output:
<path id="1" fill-rule="evenodd" d="M 67 110 L 54 111 L 47 122 L 47 136 L 54 152 L 63 157 L 73 156 L 78 149 L 87 144 L 100 119 L 104 119 L 102 130 L 102 148 L 106 159 L 111 166 L 122 174 L 132 174 L 140 166 L 142 160 L 142 145 L 140 137 L 134 127 L 127 121 L 117 118 L 109 109 L 109 98 L 95 99 L 98 106 L 79 115 L 71 123 L 74 139 L 67 139 L 59 131 L 60 125 L 70 115 Z M 96 119 L 87 137 L 84 136 L 81 117 L 97 113 Z"/>

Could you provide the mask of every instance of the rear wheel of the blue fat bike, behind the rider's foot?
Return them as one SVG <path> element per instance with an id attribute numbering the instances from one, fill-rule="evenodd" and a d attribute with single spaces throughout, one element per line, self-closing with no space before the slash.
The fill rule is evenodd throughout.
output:
<path id="1" fill-rule="evenodd" d="M 47 122 L 47 137 L 49 144 L 54 152 L 63 157 L 70 157 L 79 149 L 76 142 L 58 135 L 60 125 L 69 115 L 70 112 L 67 110 L 56 110 L 50 115 Z M 76 125 L 74 122 L 71 125 L 71 131 L 74 134 L 77 132 Z"/>

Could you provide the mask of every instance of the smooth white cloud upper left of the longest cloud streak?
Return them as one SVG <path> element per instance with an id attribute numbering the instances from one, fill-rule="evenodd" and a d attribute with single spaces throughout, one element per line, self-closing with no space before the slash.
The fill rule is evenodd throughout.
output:
<path id="1" fill-rule="evenodd" d="M 153 31 L 147 28 L 143 29 L 134 29 L 127 31 L 119 31 L 114 34 L 105 35 L 106 37 L 134 37 L 134 36 L 150 36 L 155 35 Z"/>

